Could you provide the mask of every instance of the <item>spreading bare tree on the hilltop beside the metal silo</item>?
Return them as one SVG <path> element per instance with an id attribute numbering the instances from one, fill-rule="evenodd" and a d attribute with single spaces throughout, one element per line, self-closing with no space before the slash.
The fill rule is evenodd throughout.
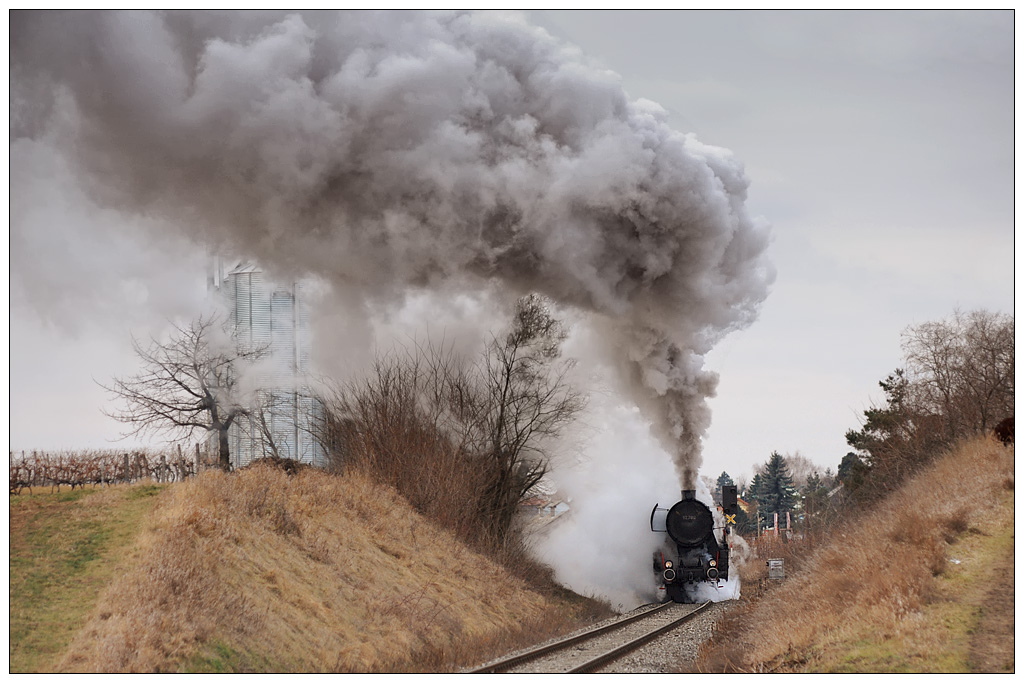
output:
<path id="1" fill-rule="evenodd" d="M 124 402 L 121 410 L 104 413 L 129 426 L 125 436 L 165 432 L 183 440 L 197 430 L 213 432 L 220 468 L 228 471 L 227 430 L 249 414 L 238 396 L 238 366 L 261 357 L 266 348 L 240 347 L 215 316 L 174 326 L 166 342 L 151 341 L 143 347 L 132 338 L 142 365 L 137 375 L 100 385 Z"/>

